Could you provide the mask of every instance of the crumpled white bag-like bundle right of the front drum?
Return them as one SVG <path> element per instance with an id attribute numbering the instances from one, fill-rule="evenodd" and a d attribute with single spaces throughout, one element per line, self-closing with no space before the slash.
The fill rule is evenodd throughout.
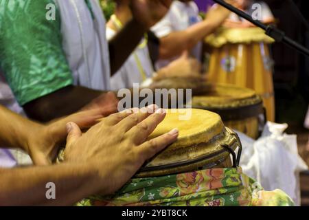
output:
<path id="1" fill-rule="evenodd" d="M 265 190 L 281 189 L 300 205 L 299 172 L 308 170 L 299 157 L 297 136 L 287 135 L 287 124 L 267 122 L 258 140 L 239 133 L 242 142 L 240 166 Z"/>

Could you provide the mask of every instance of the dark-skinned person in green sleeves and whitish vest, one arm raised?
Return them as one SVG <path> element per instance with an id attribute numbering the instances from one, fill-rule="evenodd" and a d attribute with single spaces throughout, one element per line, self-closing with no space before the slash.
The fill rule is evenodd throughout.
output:
<path id="1" fill-rule="evenodd" d="M 12 89 L 1 94 L 13 92 L 25 113 L 43 122 L 89 102 L 88 109 L 117 111 L 115 95 L 102 91 L 112 89 L 110 77 L 171 3 L 131 0 L 132 19 L 107 43 L 98 0 L 1 0 L 1 80 Z"/>

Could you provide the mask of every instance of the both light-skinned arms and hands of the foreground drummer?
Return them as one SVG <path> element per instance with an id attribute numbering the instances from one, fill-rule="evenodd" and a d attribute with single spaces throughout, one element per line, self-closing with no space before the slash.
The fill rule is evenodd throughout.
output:
<path id="1" fill-rule="evenodd" d="M 43 125 L 0 106 L 0 144 L 19 146 L 36 164 L 0 168 L 0 206 L 67 206 L 90 195 L 111 195 L 177 139 L 173 129 L 148 140 L 166 115 L 155 106 L 148 110 L 115 113 L 98 124 L 100 110 L 84 111 Z M 92 124 L 82 135 L 80 127 Z M 51 164 L 66 137 L 65 162 Z M 47 183 L 54 184 L 55 199 L 47 199 Z"/>

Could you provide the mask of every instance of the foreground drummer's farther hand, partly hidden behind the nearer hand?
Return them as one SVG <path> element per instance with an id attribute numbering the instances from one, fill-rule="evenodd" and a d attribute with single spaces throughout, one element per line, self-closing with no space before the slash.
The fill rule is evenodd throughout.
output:
<path id="1" fill-rule="evenodd" d="M 67 117 L 54 120 L 49 124 L 33 126 L 27 140 L 27 148 L 36 165 L 52 164 L 56 158 L 59 144 L 67 137 L 66 124 L 75 122 L 81 129 L 87 129 L 104 117 L 104 109 L 80 111 Z"/>

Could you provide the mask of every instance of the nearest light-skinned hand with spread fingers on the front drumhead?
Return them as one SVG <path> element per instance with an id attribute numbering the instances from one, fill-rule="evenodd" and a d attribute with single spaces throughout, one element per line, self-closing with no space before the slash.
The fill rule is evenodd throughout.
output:
<path id="1" fill-rule="evenodd" d="M 145 112 L 145 110 L 147 110 Z M 98 193 L 108 195 L 133 177 L 139 168 L 178 137 L 173 129 L 152 140 L 149 135 L 165 118 L 165 110 L 152 105 L 134 113 L 123 111 L 103 118 L 82 134 L 68 124 L 65 161 L 90 164 L 98 172 Z"/>

